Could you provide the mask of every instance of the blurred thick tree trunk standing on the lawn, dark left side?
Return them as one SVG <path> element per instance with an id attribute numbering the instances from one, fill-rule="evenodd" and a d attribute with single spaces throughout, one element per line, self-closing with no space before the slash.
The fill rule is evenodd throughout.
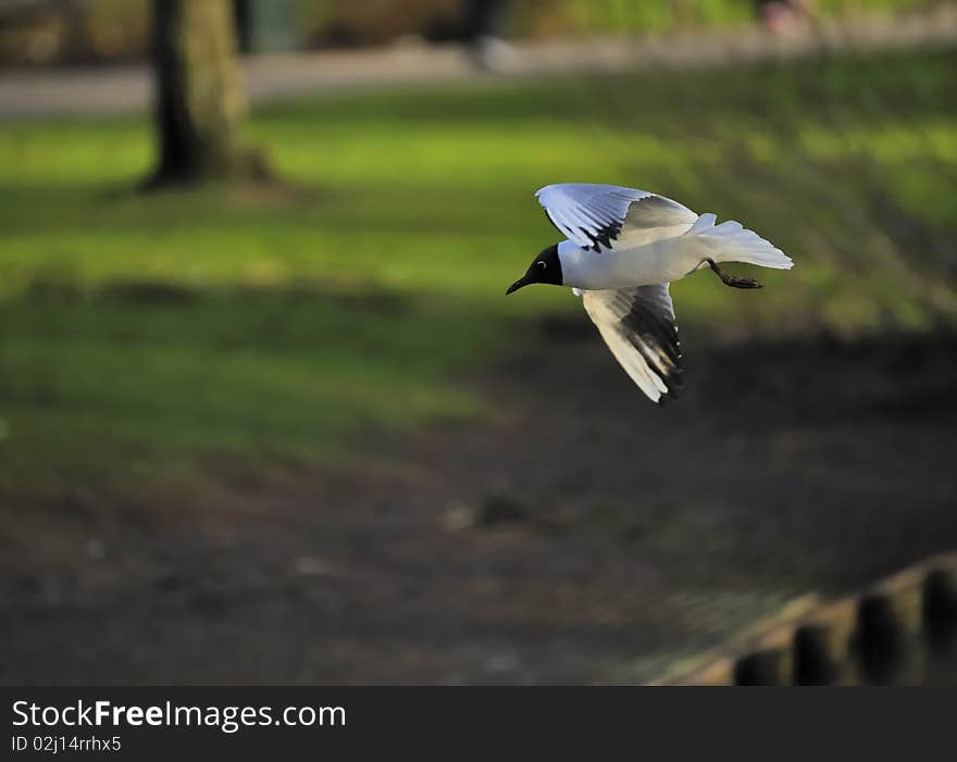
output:
<path id="1" fill-rule="evenodd" d="M 231 0 L 152 0 L 159 163 L 148 186 L 263 177 L 244 148 L 246 98 Z"/>

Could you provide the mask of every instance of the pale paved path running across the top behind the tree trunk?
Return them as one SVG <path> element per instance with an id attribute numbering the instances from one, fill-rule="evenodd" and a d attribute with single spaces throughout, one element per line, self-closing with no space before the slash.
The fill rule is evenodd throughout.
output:
<path id="1" fill-rule="evenodd" d="M 498 76 L 707 66 L 820 54 L 831 49 L 885 50 L 957 45 L 957 8 L 908 18 L 874 18 L 778 37 L 759 29 L 657 39 L 520 42 Z M 463 80 L 487 76 L 453 46 L 261 55 L 245 64 L 253 103 L 360 86 Z M 0 118 L 141 111 L 151 97 L 146 65 L 0 73 Z"/>

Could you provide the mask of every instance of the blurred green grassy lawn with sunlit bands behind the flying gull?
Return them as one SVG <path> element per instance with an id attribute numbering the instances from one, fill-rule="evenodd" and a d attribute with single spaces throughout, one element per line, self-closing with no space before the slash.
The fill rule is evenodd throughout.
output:
<path id="1" fill-rule="evenodd" d="M 351 458 L 370 428 L 488 413 L 470 375 L 581 309 L 502 296 L 557 239 L 531 197 L 550 182 L 674 196 L 798 263 L 744 297 L 678 284 L 686 325 L 950 320 L 955 91 L 928 53 L 335 95 L 252 121 L 286 188 L 156 196 L 132 190 L 145 120 L 2 125 L 0 496 Z"/>

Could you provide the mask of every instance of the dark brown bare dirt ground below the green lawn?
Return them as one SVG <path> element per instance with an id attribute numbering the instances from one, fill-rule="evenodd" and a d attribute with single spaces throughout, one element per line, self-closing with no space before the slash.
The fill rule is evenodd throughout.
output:
<path id="1" fill-rule="evenodd" d="M 957 338 L 687 333 L 656 408 L 587 321 L 535 330 L 463 379 L 499 413 L 359 470 L 36 507 L 82 552 L 4 560 L 0 680 L 642 682 L 957 548 Z"/>

